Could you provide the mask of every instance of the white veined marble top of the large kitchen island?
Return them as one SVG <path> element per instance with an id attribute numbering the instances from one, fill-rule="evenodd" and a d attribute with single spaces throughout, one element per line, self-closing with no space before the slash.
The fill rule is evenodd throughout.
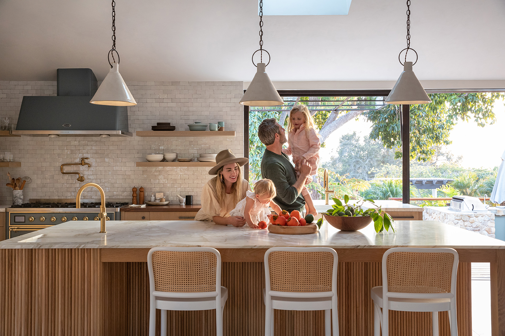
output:
<path id="1" fill-rule="evenodd" d="M 356 232 L 339 231 L 327 222 L 306 235 L 281 235 L 267 229 L 235 228 L 201 221 L 111 221 L 107 234 L 99 223 L 73 221 L 0 242 L 0 248 L 151 248 L 207 246 L 270 248 L 329 246 L 334 248 L 453 247 L 505 248 L 505 242 L 435 221 L 396 221 L 396 233 L 375 233 L 373 225 Z M 47 242 L 21 242 L 41 237 Z"/>

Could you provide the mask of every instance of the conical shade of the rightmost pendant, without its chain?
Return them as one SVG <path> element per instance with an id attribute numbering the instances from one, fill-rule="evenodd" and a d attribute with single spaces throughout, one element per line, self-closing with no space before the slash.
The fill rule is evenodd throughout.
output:
<path id="1" fill-rule="evenodd" d="M 386 104 L 427 104 L 430 97 L 412 71 L 412 62 L 403 63 L 403 72 L 384 101 Z"/>

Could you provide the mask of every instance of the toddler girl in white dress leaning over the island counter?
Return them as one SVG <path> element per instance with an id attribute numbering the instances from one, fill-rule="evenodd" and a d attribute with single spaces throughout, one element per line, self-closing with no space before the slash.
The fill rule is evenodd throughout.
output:
<path id="1" fill-rule="evenodd" d="M 237 203 L 235 209 L 230 211 L 230 216 L 241 216 L 245 218 L 245 222 L 250 228 L 258 229 L 259 222 L 269 222 L 268 216 L 271 215 L 268 210 L 269 206 L 277 214 L 282 212 L 281 208 L 272 200 L 276 194 L 272 180 L 268 178 L 259 180 L 254 185 L 254 192 L 247 190 L 245 198 Z"/>

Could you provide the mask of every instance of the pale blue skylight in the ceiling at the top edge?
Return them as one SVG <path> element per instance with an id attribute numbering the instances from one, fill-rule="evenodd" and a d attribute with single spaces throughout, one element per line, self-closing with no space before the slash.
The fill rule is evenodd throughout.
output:
<path id="1" fill-rule="evenodd" d="M 352 0 L 264 0 L 263 15 L 347 15 Z M 260 3 L 258 1 L 258 13 Z"/>

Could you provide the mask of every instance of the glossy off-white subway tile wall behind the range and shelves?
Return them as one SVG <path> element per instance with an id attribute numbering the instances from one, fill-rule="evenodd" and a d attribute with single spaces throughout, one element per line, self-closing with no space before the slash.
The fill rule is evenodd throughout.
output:
<path id="1" fill-rule="evenodd" d="M 21 167 L 0 168 L 0 204 L 12 204 L 12 189 L 5 186 L 7 172 L 13 177 L 29 176 L 31 184 L 24 187 L 24 201 L 30 198 L 75 198 L 83 183 L 102 186 L 107 198 L 131 201 L 131 189 L 144 187 L 145 195 L 165 192 L 168 199 L 176 194 L 193 195 L 193 203 L 200 203 L 201 188 L 212 176 L 211 167 L 136 167 L 146 154 L 160 151 L 176 152 L 190 157 L 199 153 L 219 153 L 231 149 L 243 156 L 242 82 L 127 82 L 137 101 L 128 108 L 128 127 L 133 137 L 0 137 L 0 152 L 11 152 Z M 16 124 L 23 96 L 56 96 L 56 82 L 0 81 L 0 117 L 8 117 Z M 150 130 L 156 122 L 171 122 L 176 130 L 188 130 L 193 121 L 203 123 L 224 121 L 225 130 L 235 130 L 235 137 L 136 137 L 137 130 Z M 78 163 L 80 158 L 91 164 Z M 4 182 L 5 181 L 5 182 Z M 99 198 L 95 188 L 86 189 L 82 198 Z M 147 198 L 146 198 L 147 199 Z"/>

